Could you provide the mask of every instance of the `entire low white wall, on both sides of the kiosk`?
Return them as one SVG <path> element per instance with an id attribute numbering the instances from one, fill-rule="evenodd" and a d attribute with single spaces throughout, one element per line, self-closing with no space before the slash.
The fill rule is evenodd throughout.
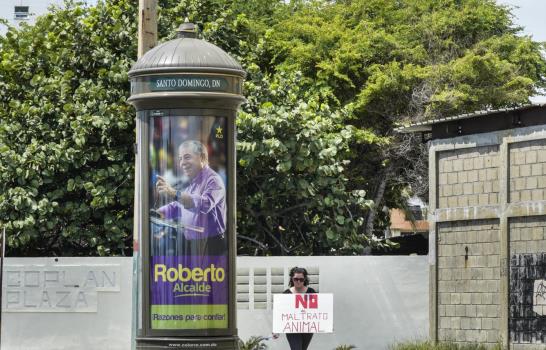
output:
<path id="1" fill-rule="evenodd" d="M 428 265 L 424 256 L 239 257 L 237 264 L 239 271 L 248 270 L 251 275 L 253 271 L 265 269 L 269 271 L 269 278 L 272 269 L 284 268 L 284 280 L 288 268 L 295 265 L 312 267 L 316 271 L 319 291 L 334 294 L 335 333 L 315 335 L 313 350 L 332 350 L 341 344 L 380 350 L 395 341 L 427 336 Z M 119 279 L 115 286 L 109 280 L 100 280 L 101 271 L 108 272 L 111 278 L 117 271 L 116 266 Z M 130 348 L 132 258 L 59 258 L 58 261 L 53 258 L 7 258 L 4 271 L 2 350 Z M 25 282 L 23 274 L 9 275 L 6 271 L 34 273 L 29 274 Z M 47 276 L 37 275 L 36 271 L 64 271 L 65 275 L 55 277 L 63 275 L 52 272 Z M 17 294 L 12 293 L 10 307 L 16 312 L 6 312 L 9 311 L 6 310 L 7 283 L 11 284 L 9 290 L 22 288 L 32 293 L 41 288 L 31 287 L 36 285 L 36 278 L 41 278 L 42 284 L 47 279 L 49 290 L 83 290 L 86 303 L 73 299 L 72 309 L 58 312 L 52 300 L 37 301 L 40 294 L 38 297 L 27 295 L 25 306 L 23 300 L 17 304 L 14 299 Z M 253 280 L 257 282 L 258 279 L 250 278 L 249 282 Z M 61 285 L 66 287 L 59 288 Z M 268 291 L 271 292 L 271 287 Z M 237 311 L 242 339 L 271 334 L 270 304 L 264 309 L 258 309 L 258 304 L 240 304 L 246 307 Z M 15 306 L 19 309 L 14 310 Z M 36 309 L 32 310 L 33 307 Z M 267 345 L 271 350 L 288 348 L 284 336 L 267 341 Z"/>

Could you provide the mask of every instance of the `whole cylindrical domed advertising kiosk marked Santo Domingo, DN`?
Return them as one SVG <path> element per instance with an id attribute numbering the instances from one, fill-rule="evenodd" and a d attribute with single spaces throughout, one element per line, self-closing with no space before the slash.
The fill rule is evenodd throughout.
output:
<path id="1" fill-rule="evenodd" d="M 191 23 L 129 72 L 140 179 L 136 349 L 238 349 L 235 114 L 244 77 Z"/>

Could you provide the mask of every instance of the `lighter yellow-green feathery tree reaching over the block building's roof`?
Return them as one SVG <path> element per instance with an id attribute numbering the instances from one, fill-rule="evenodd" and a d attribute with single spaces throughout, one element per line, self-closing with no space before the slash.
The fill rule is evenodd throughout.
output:
<path id="1" fill-rule="evenodd" d="M 374 200 L 371 234 L 376 209 L 403 205 L 408 183 L 427 196 L 426 152 L 394 126 L 525 104 L 545 87 L 544 46 L 519 33 L 492 0 L 314 1 L 276 24 L 266 48 L 273 72 L 303 72 L 309 88 L 331 92 L 334 109 L 350 111 L 349 188 Z M 362 142 L 358 131 L 384 142 Z"/>

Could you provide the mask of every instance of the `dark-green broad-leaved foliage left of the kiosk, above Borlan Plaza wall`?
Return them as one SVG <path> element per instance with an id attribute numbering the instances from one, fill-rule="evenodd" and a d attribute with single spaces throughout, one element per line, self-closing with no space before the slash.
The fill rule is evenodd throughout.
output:
<path id="1" fill-rule="evenodd" d="M 129 252 L 131 3 L 67 2 L 0 37 L 0 217 L 9 254 Z"/>

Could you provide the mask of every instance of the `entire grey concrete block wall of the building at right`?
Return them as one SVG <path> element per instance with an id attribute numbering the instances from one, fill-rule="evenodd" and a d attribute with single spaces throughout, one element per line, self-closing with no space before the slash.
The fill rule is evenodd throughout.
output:
<path id="1" fill-rule="evenodd" d="M 546 125 L 429 145 L 431 338 L 545 349 Z"/>

